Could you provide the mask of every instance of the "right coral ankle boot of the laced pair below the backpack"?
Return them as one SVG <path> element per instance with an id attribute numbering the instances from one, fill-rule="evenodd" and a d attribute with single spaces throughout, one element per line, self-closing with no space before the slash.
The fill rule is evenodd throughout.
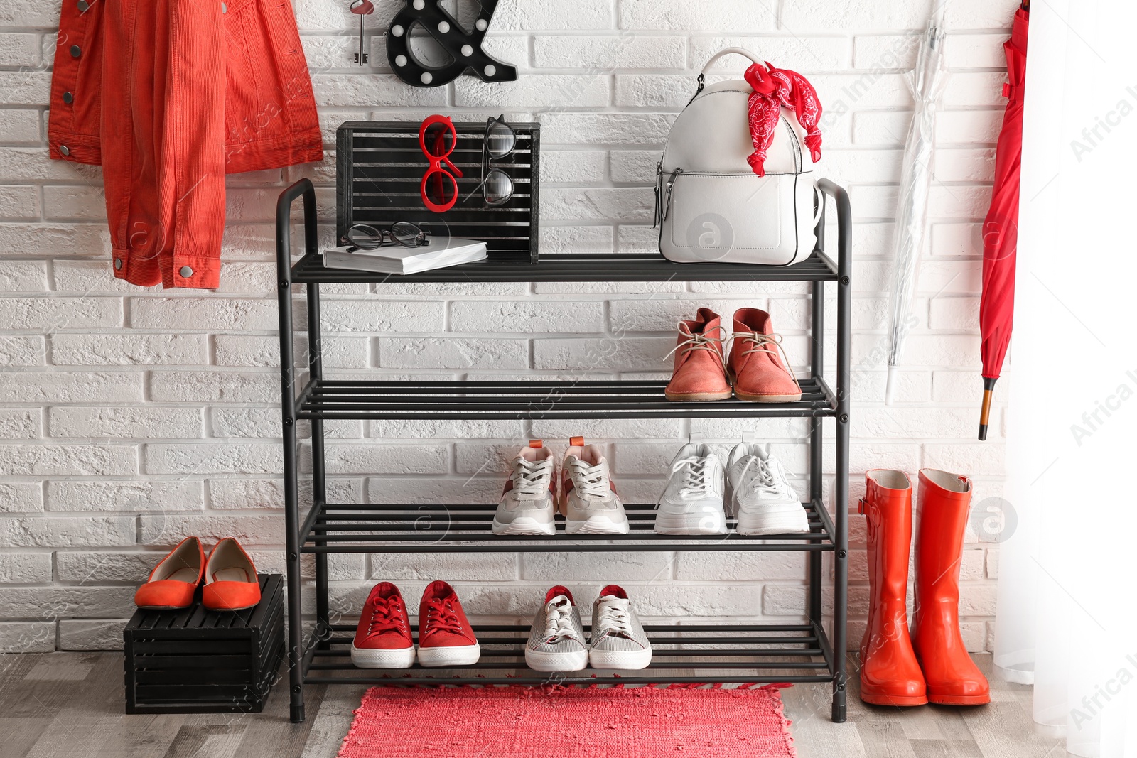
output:
<path id="1" fill-rule="evenodd" d="M 789 369 L 781 335 L 774 334 L 770 314 L 758 308 L 739 308 L 735 311 L 731 336 L 727 370 L 739 400 L 796 402 L 802 399 L 802 386 Z"/>

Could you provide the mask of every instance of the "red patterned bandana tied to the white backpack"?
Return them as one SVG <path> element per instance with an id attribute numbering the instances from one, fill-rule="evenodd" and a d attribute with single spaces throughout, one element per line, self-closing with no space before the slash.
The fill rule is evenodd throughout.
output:
<path id="1" fill-rule="evenodd" d="M 821 102 L 818 91 L 797 72 L 788 68 L 774 68 L 770 61 L 763 67 L 754 64 L 746 69 L 747 83 L 754 88 L 749 101 L 750 140 L 754 141 L 754 152 L 747 157 L 750 168 L 758 176 L 765 175 L 764 164 L 766 150 L 774 140 L 778 117 L 781 107 L 792 108 L 797 114 L 797 123 L 805 130 L 805 147 L 814 163 L 821 159 L 821 130 L 818 120 L 821 118 Z"/>

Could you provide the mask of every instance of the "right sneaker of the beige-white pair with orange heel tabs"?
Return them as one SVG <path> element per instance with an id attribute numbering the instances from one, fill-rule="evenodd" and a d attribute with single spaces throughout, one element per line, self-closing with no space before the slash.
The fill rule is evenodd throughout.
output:
<path id="1" fill-rule="evenodd" d="M 628 534 L 628 514 L 616 497 L 608 461 L 583 438 L 568 441 L 561 466 L 561 513 L 566 534 Z"/>

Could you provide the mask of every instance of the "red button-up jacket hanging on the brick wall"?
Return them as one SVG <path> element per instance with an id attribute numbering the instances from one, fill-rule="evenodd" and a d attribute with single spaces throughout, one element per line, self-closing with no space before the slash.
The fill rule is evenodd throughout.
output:
<path id="1" fill-rule="evenodd" d="M 115 276 L 215 288 L 225 174 L 323 158 L 289 0 L 64 0 L 52 158 L 102 166 Z"/>

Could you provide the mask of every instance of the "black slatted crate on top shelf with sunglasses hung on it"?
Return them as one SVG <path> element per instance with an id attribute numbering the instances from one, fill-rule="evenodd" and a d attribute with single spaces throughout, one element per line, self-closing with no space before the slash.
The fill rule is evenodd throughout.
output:
<path id="1" fill-rule="evenodd" d="M 435 235 L 483 240 L 491 259 L 536 263 L 538 228 L 538 160 L 540 125 L 509 123 L 517 135 L 513 152 L 493 166 L 513 180 L 513 197 L 490 207 L 482 194 L 482 143 L 485 122 L 454 124 L 457 138 L 449 160 L 458 201 L 450 210 L 428 210 L 420 194 L 428 158 L 418 144 L 418 122 L 345 122 L 335 142 L 335 238 L 347 243 L 352 224 L 387 228 L 413 222 Z M 374 274 L 373 274 L 374 275 Z"/>

